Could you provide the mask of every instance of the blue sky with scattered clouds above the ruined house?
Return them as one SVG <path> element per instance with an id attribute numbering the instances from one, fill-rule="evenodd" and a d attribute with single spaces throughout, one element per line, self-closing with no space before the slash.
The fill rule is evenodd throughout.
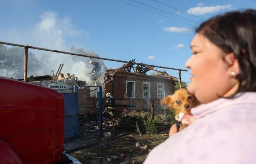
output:
<path id="1" fill-rule="evenodd" d="M 182 81 L 188 83 L 185 62 L 196 27 L 217 14 L 247 8 L 256 9 L 256 1 L 0 0 L 0 41 L 62 51 L 75 46 L 102 58 L 184 69 L 188 71 L 181 71 Z M 58 58 L 55 70 L 63 62 Z M 76 63 L 65 62 L 64 71 L 74 74 L 69 71 Z M 124 65 L 103 62 L 112 69 Z M 155 69 L 178 77 L 176 70 Z M 83 79 L 83 73 L 79 76 Z"/>

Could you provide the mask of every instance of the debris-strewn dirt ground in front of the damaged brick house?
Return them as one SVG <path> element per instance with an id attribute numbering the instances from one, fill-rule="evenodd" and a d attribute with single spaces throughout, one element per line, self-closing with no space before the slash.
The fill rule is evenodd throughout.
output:
<path id="1" fill-rule="evenodd" d="M 118 124 L 103 117 L 103 134 L 110 132 L 110 137 L 99 136 L 97 119 L 81 122 L 81 135 L 65 141 L 65 152 L 82 164 L 143 163 L 151 149 L 168 138 L 166 134 L 169 133 L 172 121 L 163 115 L 155 116 L 161 120 L 157 123 L 158 133 L 139 135 L 135 133 L 135 126 L 131 122 L 140 114 L 136 111 L 122 113 Z"/>

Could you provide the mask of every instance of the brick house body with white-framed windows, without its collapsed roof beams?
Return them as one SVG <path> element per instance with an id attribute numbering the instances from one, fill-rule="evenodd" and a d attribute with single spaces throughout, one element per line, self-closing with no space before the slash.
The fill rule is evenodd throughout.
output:
<path id="1" fill-rule="evenodd" d="M 110 72 L 109 72 L 110 73 Z M 106 73 L 108 74 L 108 73 Z M 111 93 L 116 101 L 116 112 L 124 110 L 149 109 L 150 99 L 154 99 L 155 111 L 163 110 L 160 100 L 165 95 L 174 93 L 174 82 L 177 78 L 166 76 L 146 75 L 120 70 L 114 73 L 108 82 L 102 81 L 92 86 L 102 85 L 102 106 L 105 105 L 105 94 Z M 84 87 L 78 91 L 78 106 L 80 114 L 97 114 L 97 90 Z M 90 93 L 89 93 L 90 92 Z M 104 108 L 102 109 L 104 110 Z"/>

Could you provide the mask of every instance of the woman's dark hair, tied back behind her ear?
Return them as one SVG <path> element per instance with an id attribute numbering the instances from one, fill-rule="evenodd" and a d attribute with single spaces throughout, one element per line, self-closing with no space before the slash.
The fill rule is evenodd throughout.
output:
<path id="1" fill-rule="evenodd" d="M 202 23 L 204 35 L 225 53 L 234 52 L 239 62 L 238 92 L 256 91 L 256 10 L 227 12 Z"/>

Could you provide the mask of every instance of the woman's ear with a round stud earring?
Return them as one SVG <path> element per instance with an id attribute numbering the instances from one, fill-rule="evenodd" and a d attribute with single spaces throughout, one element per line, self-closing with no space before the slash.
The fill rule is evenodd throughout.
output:
<path id="1" fill-rule="evenodd" d="M 236 75 L 240 74 L 238 59 L 236 58 L 234 52 L 227 54 L 225 56 L 225 61 L 227 63 L 227 71 L 231 76 L 233 76 L 233 73 L 236 73 Z"/>

